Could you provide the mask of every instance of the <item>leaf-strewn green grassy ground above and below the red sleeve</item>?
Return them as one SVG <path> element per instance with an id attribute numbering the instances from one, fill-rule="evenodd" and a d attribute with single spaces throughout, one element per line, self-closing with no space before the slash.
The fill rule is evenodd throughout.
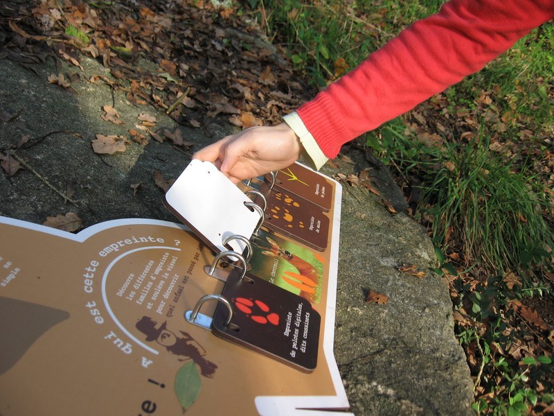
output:
<path id="1" fill-rule="evenodd" d="M 314 92 L 442 3 L 249 0 Z M 456 336 L 474 376 L 477 414 L 524 415 L 554 402 L 551 360 L 541 341 L 546 336 L 514 306 L 551 293 L 540 276 L 553 266 L 552 197 L 546 192 L 554 184 L 548 162 L 553 50 L 551 22 L 431 98 L 431 105 L 422 104 L 416 111 L 425 114 L 423 123 L 407 114 L 362 138 L 404 185 L 422 191 L 418 211 L 436 244 L 437 272 L 449 275 L 454 309 L 467 318 L 456 322 Z M 436 121 L 443 130 L 435 130 Z M 421 132 L 438 134 L 442 142 L 427 146 Z M 454 263 L 443 253 L 461 258 Z M 524 278 L 513 286 L 512 275 Z M 525 345 L 526 356 L 509 353 L 532 338 L 539 341 Z"/>

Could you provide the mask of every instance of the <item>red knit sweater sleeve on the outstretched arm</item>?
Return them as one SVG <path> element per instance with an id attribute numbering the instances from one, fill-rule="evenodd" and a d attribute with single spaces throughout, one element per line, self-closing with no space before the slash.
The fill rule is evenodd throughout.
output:
<path id="1" fill-rule="evenodd" d="M 298 109 L 323 153 L 479 71 L 554 17 L 554 0 L 452 0 Z"/>

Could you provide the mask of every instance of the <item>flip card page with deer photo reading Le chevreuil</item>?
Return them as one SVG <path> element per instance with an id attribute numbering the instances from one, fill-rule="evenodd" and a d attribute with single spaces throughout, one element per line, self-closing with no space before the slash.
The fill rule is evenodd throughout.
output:
<path id="1" fill-rule="evenodd" d="M 263 230 L 251 242 L 249 272 L 319 304 L 324 268 L 320 254 Z"/>

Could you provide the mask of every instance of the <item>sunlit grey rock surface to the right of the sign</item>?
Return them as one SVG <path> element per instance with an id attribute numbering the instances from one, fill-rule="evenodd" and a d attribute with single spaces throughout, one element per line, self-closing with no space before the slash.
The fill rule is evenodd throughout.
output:
<path id="1" fill-rule="evenodd" d="M 379 170 L 374 174 L 386 176 Z M 400 189 L 390 185 L 384 193 L 395 200 Z M 352 411 L 472 415 L 470 372 L 425 230 L 362 188 L 343 191 L 342 210 L 335 355 Z M 426 276 L 400 272 L 403 264 Z M 370 290 L 388 302 L 366 302 Z"/>

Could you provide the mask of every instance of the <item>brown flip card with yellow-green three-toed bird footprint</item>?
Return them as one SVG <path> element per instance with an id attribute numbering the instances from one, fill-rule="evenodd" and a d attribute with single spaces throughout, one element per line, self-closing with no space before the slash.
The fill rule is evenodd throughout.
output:
<path id="1" fill-rule="evenodd" d="M 266 176 L 271 183 L 271 177 Z M 323 211 L 331 209 L 333 201 L 333 186 L 323 175 L 310 168 L 294 163 L 288 168 L 277 171 L 274 187 L 288 193 L 294 193 L 317 205 Z"/>

